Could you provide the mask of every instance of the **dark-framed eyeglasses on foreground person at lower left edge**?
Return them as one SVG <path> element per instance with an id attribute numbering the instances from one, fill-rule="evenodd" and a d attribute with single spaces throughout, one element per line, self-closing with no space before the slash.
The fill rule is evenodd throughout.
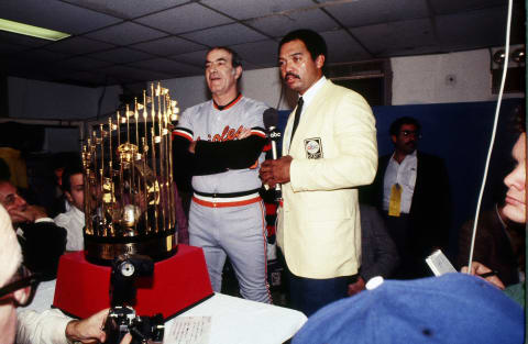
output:
<path id="1" fill-rule="evenodd" d="M 11 281 L 0 288 L 0 304 L 13 301 L 16 307 L 24 307 L 31 303 L 40 282 L 40 275 L 32 274 L 25 266 L 21 265 Z M 14 291 L 23 289 L 22 296 L 14 296 Z"/>

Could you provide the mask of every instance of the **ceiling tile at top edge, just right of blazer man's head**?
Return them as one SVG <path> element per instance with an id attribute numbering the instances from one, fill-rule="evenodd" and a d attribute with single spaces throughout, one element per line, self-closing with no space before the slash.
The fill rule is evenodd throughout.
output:
<path id="1" fill-rule="evenodd" d="M 326 8 L 346 27 L 428 16 L 424 0 L 358 0 Z"/>

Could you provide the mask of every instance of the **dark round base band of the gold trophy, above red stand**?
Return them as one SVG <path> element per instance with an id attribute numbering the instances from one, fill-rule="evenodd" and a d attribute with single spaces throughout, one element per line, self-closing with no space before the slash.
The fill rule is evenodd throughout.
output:
<path id="1" fill-rule="evenodd" d="M 145 255 L 160 262 L 178 251 L 176 235 L 175 231 L 127 237 L 101 237 L 85 233 L 85 255 L 88 262 L 98 265 L 111 265 L 114 258 L 123 254 Z"/>

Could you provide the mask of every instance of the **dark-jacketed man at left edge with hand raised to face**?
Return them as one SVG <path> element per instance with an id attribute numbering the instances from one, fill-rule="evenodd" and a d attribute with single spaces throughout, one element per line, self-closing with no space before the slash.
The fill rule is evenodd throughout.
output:
<path id="1" fill-rule="evenodd" d="M 57 226 L 43 208 L 28 204 L 8 180 L 0 180 L 0 204 L 16 231 L 24 265 L 40 273 L 43 280 L 54 279 L 66 248 L 66 230 Z"/>

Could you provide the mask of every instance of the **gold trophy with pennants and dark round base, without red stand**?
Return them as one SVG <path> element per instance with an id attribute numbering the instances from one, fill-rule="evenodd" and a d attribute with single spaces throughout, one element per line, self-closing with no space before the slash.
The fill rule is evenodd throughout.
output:
<path id="1" fill-rule="evenodd" d="M 154 260 L 176 253 L 173 122 L 177 102 L 151 84 L 151 97 L 99 124 L 82 146 L 85 248 L 88 260 L 121 254 Z"/>

